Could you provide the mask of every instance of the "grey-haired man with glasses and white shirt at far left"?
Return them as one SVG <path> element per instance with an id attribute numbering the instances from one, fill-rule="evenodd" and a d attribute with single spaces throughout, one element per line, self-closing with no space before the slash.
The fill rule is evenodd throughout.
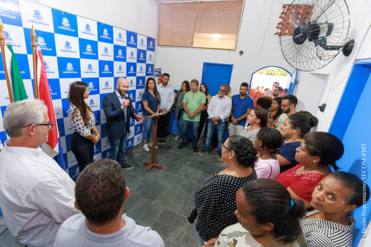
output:
<path id="1" fill-rule="evenodd" d="M 40 148 L 53 124 L 37 99 L 11 103 L 4 112 L 10 139 L 0 152 L 0 207 L 10 233 L 29 247 L 53 246 L 60 224 L 79 212 L 75 183 Z"/>

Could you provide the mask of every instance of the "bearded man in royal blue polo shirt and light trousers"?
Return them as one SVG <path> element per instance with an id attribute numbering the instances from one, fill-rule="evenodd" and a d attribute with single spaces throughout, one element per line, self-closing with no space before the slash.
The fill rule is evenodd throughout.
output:
<path id="1" fill-rule="evenodd" d="M 240 86 L 240 94 L 232 96 L 232 111 L 229 118 L 229 136 L 238 135 L 246 124 L 246 117 L 254 108 L 254 100 L 247 95 L 249 84 L 243 82 Z"/>

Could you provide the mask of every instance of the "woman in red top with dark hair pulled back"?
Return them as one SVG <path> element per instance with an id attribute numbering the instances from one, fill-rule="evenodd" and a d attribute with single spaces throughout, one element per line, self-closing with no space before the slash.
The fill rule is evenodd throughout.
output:
<path id="1" fill-rule="evenodd" d="M 296 149 L 295 167 L 282 172 L 276 181 L 283 184 L 292 198 L 302 199 L 306 208 L 311 207 L 312 192 L 326 175 L 335 170 L 336 161 L 342 157 L 344 146 L 334 135 L 326 132 L 311 132 Z"/>

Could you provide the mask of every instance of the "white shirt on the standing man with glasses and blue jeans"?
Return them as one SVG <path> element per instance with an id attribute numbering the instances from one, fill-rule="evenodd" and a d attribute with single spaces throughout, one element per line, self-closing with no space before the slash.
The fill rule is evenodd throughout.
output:
<path id="1" fill-rule="evenodd" d="M 224 119 L 228 118 L 232 109 L 232 99 L 227 95 L 223 98 L 219 98 L 218 95 L 211 97 L 209 106 L 207 107 L 207 113 L 209 114 L 209 119 L 214 117 L 220 117 L 224 122 Z"/>

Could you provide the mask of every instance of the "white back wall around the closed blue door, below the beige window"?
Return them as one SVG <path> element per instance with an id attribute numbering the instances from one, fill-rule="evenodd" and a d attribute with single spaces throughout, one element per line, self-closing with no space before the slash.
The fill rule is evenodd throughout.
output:
<path id="1" fill-rule="evenodd" d="M 293 73 L 294 69 L 281 56 L 279 38 L 274 36 L 284 3 L 286 1 L 246 0 L 236 52 L 157 47 L 155 67 L 161 68 L 162 73 L 169 73 L 169 83 L 177 89 L 183 80 L 201 80 L 203 62 L 233 64 L 231 94 L 237 94 L 239 85 L 242 82 L 250 82 L 252 73 L 262 67 L 279 66 Z M 270 51 L 269 55 L 262 55 L 263 47 L 275 49 Z M 239 55 L 240 50 L 244 52 L 242 56 Z"/>

